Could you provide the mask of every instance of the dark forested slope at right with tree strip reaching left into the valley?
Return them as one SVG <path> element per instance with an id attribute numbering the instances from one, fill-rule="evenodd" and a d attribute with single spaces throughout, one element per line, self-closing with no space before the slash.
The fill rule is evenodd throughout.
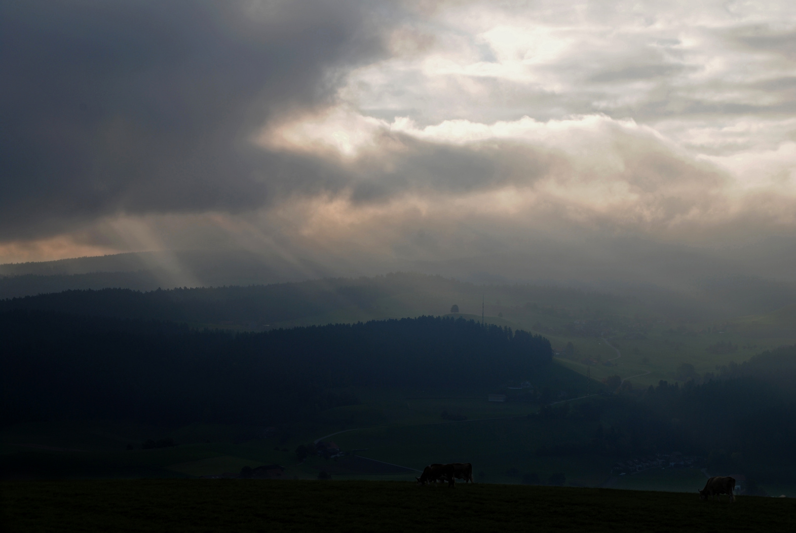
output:
<path id="1" fill-rule="evenodd" d="M 603 420 L 590 442 L 540 450 L 548 455 L 597 453 L 642 457 L 677 449 L 700 457 L 711 473 L 789 482 L 796 468 L 796 346 L 720 368 L 705 383 L 661 381 L 646 390 L 616 390 L 581 407 L 543 408 L 548 418 Z M 585 416 L 588 419 L 588 416 Z"/>

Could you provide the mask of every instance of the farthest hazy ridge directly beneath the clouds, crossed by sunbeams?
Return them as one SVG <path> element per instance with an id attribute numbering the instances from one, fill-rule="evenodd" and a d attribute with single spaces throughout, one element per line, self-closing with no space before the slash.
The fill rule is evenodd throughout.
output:
<path id="1" fill-rule="evenodd" d="M 627 253 L 634 251 L 638 251 L 635 246 L 618 256 L 626 257 Z M 734 252 L 733 256 L 736 255 Z M 661 266 L 669 259 L 669 255 L 663 255 L 654 263 Z M 544 273 L 532 267 L 540 261 L 550 262 L 551 270 Z M 367 263 L 351 258 L 318 262 L 310 257 L 286 257 L 244 250 L 150 251 L 42 263 L 2 264 L 0 299 L 88 288 L 155 290 L 158 287 L 250 286 L 411 271 L 474 282 L 487 289 L 489 303 L 494 303 L 490 298 L 492 288 L 504 287 L 498 292 L 505 293 L 515 286 L 544 286 L 548 291 L 558 294 L 557 301 L 569 301 L 565 305 L 572 307 L 567 294 L 572 294 L 572 288 L 575 288 L 582 294 L 611 294 L 613 298 L 632 303 L 632 309 L 623 309 L 629 316 L 642 312 L 687 321 L 728 320 L 770 313 L 796 301 L 796 285 L 790 275 L 778 279 L 732 275 L 730 271 L 718 267 L 718 264 L 726 267 L 724 262 L 717 264 L 698 259 L 696 263 L 700 265 L 700 270 L 704 269 L 696 277 L 684 276 L 682 265 L 670 264 L 669 267 L 673 268 L 664 268 L 658 276 L 645 270 L 644 277 L 647 279 L 641 282 L 634 281 L 634 275 L 618 274 L 616 266 L 601 271 L 583 271 L 572 258 L 546 255 L 541 250 L 527 257 L 490 255 L 442 263 Z M 579 272 L 564 274 L 570 267 L 576 267 Z M 509 288 L 509 291 L 505 288 Z M 577 305 L 590 304 L 587 300 L 581 300 Z M 474 309 L 462 309 L 462 312 L 472 313 Z"/>

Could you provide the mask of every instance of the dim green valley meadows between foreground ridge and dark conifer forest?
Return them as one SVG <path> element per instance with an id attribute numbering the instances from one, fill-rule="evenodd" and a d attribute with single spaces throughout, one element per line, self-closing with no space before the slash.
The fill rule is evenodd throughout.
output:
<path id="1" fill-rule="evenodd" d="M 693 492 L 704 483 L 698 469 L 648 471 L 620 478 L 611 477 L 618 457 L 539 455 L 537 450 L 543 446 L 588 442 L 599 422 L 540 418 L 533 416 L 536 405 L 490 403 L 486 391 L 469 395 L 388 388 L 353 392 L 361 404 L 322 411 L 312 420 L 271 430 L 68 421 L 10 426 L 0 430 L 0 477 L 190 478 L 234 475 L 244 466 L 277 464 L 286 467 L 283 477 L 290 480 L 314 480 L 322 471 L 334 480 L 412 480 L 424 465 L 462 461 L 474 465 L 479 484 L 520 484 L 524 477 L 534 476 L 544 482 L 554 474 L 564 474 L 564 484 L 577 487 Z M 591 400 L 569 405 L 575 410 L 584 401 Z M 443 411 L 466 419 L 443 419 Z M 611 412 L 603 414 L 602 422 L 603 426 L 611 423 Z M 161 438 L 174 439 L 178 445 L 142 449 L 147 439 Z M 299 463 L 296 446 L 321 438 L 337 442 L 357 457 L 313 456 Z M 675 450 L 661 450 L 671 451 Z M 775 496 L 796 494 L 793 487 L 763 484 L 763 488 Z"/>

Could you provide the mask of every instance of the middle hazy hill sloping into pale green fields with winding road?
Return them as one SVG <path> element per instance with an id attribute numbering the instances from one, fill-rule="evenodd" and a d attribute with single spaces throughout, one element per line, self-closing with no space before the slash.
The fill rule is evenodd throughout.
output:
<path id="1" fill-rule="evenodd" d="M 792 308 L 739 321 L 689 321 L 656 314 L 646 302 L 615 294 L 560 286 L 484 286 L 411 273 L 143 292 L 69 290 L 0 301 L 0 311 L 45 309 L 262 332 L 439 316 L 448 314 L 452 305 L 458 305 L 457 316 L 480 321 L 482 298 L 487 324 L 540 333 L 572 371 L 598 380 L 619 375 L 629 378 L 634 387 L 655 385 L 661 379 L 704 380 L 717 366 L 796 341 L 786 313 Z"/>

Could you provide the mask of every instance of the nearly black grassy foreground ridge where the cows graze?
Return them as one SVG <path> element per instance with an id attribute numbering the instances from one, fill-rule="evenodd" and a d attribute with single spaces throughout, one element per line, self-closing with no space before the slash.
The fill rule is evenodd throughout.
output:
<path id="1" fill-rule="evenodd" d="M 794 531 L 796 502 L 390 481 L 5 481 L 4 531 Z M 725 496 L 726 498 L 726 496 Z"/>

